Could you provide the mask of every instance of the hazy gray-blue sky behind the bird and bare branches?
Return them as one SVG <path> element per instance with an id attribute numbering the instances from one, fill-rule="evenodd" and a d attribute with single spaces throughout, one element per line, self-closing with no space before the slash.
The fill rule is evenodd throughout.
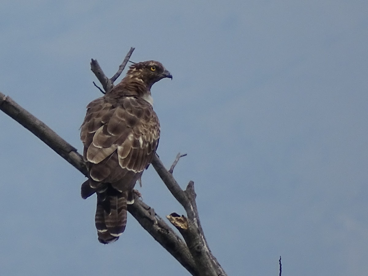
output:
<path id="1" fill-rule="evenodd" d="M 194 180 L 209 245 L 229 275 L 368 270 L 366 1 L 5 1 L 0 91 L 81 150 L 85 105 L 112 76 L 159 60 L 158 153 Z M 0 113 L 1 275 L 188 275 L 131 216 L 96 239 L 84 177 Z M 164 216 L 183 209 L 150 168 L 139 189 Z"/>

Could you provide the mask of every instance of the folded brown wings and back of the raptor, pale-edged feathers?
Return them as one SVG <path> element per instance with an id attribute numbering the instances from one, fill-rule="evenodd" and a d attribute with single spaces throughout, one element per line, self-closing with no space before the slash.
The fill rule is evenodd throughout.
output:
<path id="1" fill-rule="evenodd" d="M 142 172 L 152 161 L 159 139 L 159 122 L 152 106 L 135 97 L 123 97 L 113 105 L 102 97 L 87 108 L 81 139 L 84 157 L 91 163 L 91 178 L 113 183 L 130 179 L 128 172 Z"/>

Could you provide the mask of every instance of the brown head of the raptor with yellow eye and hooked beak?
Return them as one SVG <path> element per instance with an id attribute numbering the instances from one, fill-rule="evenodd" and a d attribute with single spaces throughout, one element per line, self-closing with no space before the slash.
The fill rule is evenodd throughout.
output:
<path id="1" fill-rule="evenodd" d="M 130 66 L 127 76 L 143 82 L 149 88 L 160 79 L 173 79 L 173 76 L 165 69 L 162 63 L 154 60 L 134 63 Z"/>

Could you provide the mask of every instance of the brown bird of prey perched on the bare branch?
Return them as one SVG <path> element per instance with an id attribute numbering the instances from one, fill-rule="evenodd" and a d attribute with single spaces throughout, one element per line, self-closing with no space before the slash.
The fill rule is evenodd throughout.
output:
<path id="1" fill-rule="evenodd" d="M 152 108 L 151 87 L 173 78 L 158 61 L 131 65 L 118 85 L 87 105 L 81 126 L 89 177 L 81 196 L 97 194 L 98 240 L 112 243 L 124 232 L 133 188 L 155 155 L 160 124 Z"/>

